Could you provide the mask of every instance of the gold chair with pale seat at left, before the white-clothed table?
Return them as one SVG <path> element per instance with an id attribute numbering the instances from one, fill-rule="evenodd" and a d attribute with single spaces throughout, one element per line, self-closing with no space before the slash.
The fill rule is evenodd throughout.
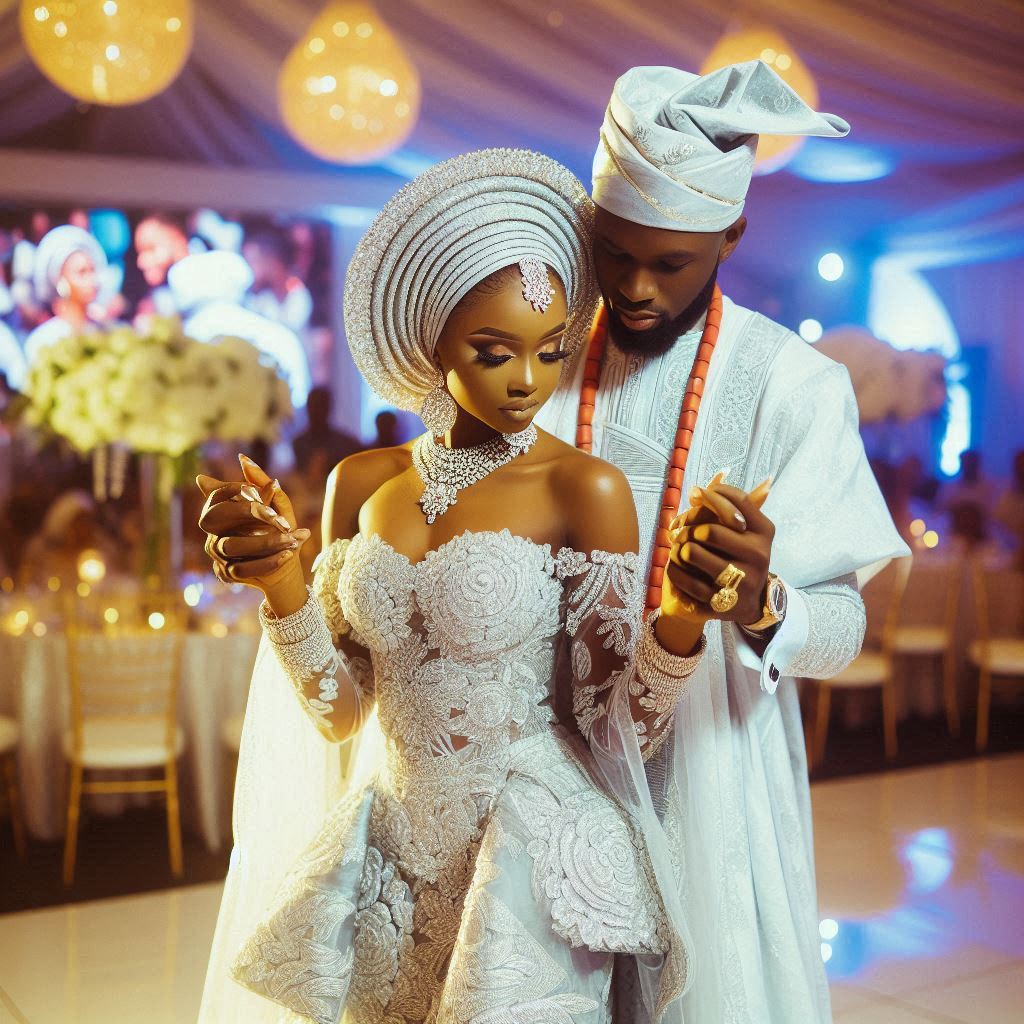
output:
<path id="1" fill-rule="evenodd" d="M 165 794 L 171 871 L 175 878 L 182 874 L 177 759 L 184 736 L 177 722 L 177 695 L 184 635 L 170 605 L 160 614 L 162 620 L 151 620 L 159 622 L 156 628 L 117 632 L 69 624 L 71 728 L 63 745 L 71 779 L 65 885 L 75 877 L 81 803 L 88 794 Z M 143 770 L 158 777 L 137 777 Z M 85 776 L 90 771 L 124 777 L 89 780 Z"/>

